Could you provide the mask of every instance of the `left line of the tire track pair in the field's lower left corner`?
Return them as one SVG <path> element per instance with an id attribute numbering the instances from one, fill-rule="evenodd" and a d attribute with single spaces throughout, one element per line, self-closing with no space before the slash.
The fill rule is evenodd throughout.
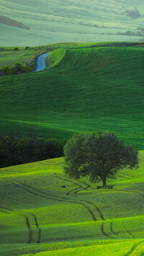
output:
<path id="1" fill-rule="evenodd" d="M 32 242 L 32 229 L 31 229 L 31 226 L 30 226 L 30 221 L 28 219 L 27 216 L 25 216 L 24 214 L 22 213 L 18 213 L 17 211 L 14 211 L 14 210 L 9 210 L 8 208 L 4 208 L 4 207 L 1 207 L 0 206 L 0 211 L 4 212 L 4 213 L 16 213 L 17 215 L 20 215 L 22 217 L 24 217 L 25 221 L 26 221 L 26 226 L 27 226 L 27 229 L 29 230 L 29 238 L 28 238 L 28 241 L 27 241 L 27 244 L 30 244 Z M 7 212 L 8 211 L 8 212 Z"/>

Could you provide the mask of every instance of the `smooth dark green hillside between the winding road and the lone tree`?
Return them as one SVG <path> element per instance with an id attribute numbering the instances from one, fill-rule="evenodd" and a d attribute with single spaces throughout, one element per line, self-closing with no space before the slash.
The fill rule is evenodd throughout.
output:
<path id="1" fill-rule="evenodd" d="M 143 45 L 54 50 L 45 71 L 1 76 L 1 133 L 109 131 L 144 149 L 143 56 Z"/>

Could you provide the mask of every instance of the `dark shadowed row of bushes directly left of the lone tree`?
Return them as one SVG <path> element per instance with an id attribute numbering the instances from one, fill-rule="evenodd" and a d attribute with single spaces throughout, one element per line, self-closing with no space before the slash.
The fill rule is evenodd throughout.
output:
<path id="1" fill-rule="evenodd" d="M 67 139 L 30 138 L 14 133 L 0 136 L 0 168 L 64 156 L 66 142 Z"/>

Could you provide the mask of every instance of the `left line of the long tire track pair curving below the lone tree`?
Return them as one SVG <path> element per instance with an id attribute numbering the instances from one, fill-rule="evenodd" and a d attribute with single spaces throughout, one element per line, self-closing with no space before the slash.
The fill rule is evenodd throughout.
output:
<path id="1" fill-rule="evenodd" d="M 6 179 L 9 179 L 9 178 L 6 178 Z M 69 203 L 76 203 L 76 204 L 79 204 L 81 206 L 84 206 L 89 211 L 89 213 L 91 214 L 92 219 L 94 221 L 96 221 L 96 217 L 95 217 L 93 211 L 91 211 L 91 208 L 89 208 L 89 206 L 86 206 L 85 202 L 83 202 L 83 201 L 78 202 L 78 200 L 72 200 L 72 199 L 70 200 L 68 198 L 63 198 L 63 197 L 60 197 L 60 196 L 50 195 L 48 193 L 41 192 L 40 190 L 37 190 L 37 189 L 35 189 L 33 187 L 30 187 L 30 186 L 28 186 L 28 185 L 26 185 L 22 182 L 19 182 L 19 181 L 17 181 L 17 183 L 18 183 L 17 184 L 16 182 L 9 179 L 9 182 L 11 182 L 13 185 L 16 185 L 17 187 L 19 187 L 19 188 L 21 188 L 21 189 L 23 189 L 23 190 L 25 190 L 29 193 L 32 193 L 34 195 L 38 195 L 42 198 L 49 198 L 49 199 L 53 199 L 53 200 L 58 200 L 60 202 L 63 202 L 63 200 L 64 200 L 64 201 L 69 202 Z"/>

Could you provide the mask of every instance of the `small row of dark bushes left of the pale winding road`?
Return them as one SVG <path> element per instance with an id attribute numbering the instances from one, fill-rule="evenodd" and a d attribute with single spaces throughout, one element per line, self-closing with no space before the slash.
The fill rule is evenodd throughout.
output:
<path id="1" fill-rule="evenodd" d="M 0 75 L 1 76 L 9 76 L 12 74 L 22 74 L 31 72 L 32 68 L 30 66 L 24 65 L 22 66 L 21 63 L 15 63 L 13 68 L 10 68 L 9 66 L 3 66 L 2 69 L 0 69 Z"/>

